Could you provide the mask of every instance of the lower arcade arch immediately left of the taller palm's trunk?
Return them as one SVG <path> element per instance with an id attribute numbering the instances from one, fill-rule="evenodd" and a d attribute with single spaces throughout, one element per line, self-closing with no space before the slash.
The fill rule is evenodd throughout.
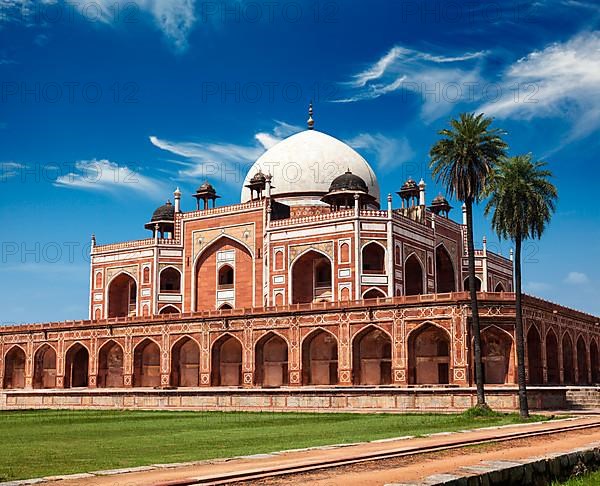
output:
<path id="1" fill-rule="evenodd" d="M 424 324 L 408 337 L 408 382 L 444 385 L 450 380 L 450 338 L 433 324 Z"/>

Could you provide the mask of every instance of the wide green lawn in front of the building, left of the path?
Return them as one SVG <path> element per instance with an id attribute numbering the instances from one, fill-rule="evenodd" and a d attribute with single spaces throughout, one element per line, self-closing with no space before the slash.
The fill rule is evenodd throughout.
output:
<path id="1" fill-rule="evenodd" d="M 469 413 L 1 412 L 0 481 L 520 422 Z"/>

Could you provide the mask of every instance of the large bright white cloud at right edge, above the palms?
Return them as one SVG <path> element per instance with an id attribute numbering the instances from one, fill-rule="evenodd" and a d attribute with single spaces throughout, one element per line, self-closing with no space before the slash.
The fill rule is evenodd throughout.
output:
<path id="1" fill-rule="evenodd" d="M 499 118 L 560 117 L 571 122 L 568 138 L 600 128 L 600 31 L 531 52 L 503 73 L 501 99 L 480 109 Z M 518 91 L 515 90 L 518 87 Z"/>

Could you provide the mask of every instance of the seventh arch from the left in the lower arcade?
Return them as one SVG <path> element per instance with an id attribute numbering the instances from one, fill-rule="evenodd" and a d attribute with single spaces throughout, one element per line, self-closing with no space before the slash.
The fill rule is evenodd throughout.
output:
<path id="1" fill-rule="evenodd" d="M 241 341 L 230 333 L 217 339 L 211 349 L 212 386 L 242 385 L 242 353 Z"/>

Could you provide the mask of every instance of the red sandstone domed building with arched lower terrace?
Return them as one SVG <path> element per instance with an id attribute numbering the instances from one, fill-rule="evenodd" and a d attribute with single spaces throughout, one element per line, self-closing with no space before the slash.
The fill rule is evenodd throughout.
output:
<path id="1" fill-rule="evenodd" d="M 275 160 L 294 137 L 364 180 L 249 173 L 241 204 L 215 207 L 204 184 L 188 212 L 176 191 L 152 238 L 93 241 L 89 320 L 0 329 L 2 387 L 472 383 L 465 226 L 410 180 L 380 209 L 366 161 L 319 132 Z M 485 243 L 475 256 L 486 382 L 512 384 L 512 262 Z M 596 317 L 533 297 L 524 312 L 530 383 L 600 381 Z"/>

